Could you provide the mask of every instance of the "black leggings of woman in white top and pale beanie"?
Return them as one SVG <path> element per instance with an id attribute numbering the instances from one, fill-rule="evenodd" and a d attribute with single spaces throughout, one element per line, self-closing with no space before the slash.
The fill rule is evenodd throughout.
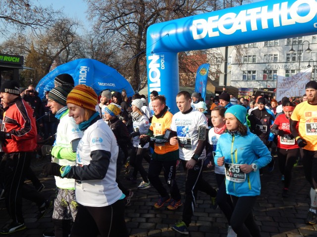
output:
<path id="1" fill-rule="evenodd" d="M 142 160 L 146 152 L 147 152 L 146 149 L 133 147 L 131 157 L 130 157 L 130 164 L 134 167 L 132 176 L 136 178 L 139 171 L 143 181 L 146 183 L 149 183 L 148 173 L 147 171 L 145 171 L 142 165 Z"/>

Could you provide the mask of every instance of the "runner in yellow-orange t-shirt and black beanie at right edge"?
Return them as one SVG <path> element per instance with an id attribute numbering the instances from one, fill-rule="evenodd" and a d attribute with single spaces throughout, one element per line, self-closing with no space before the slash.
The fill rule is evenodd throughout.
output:
<path id="1" fill-rule="evenodd" d="M 298 104 L 290 119 L 290 129 L 300 148 L 305 177 L 311 184 L 311 207 L 306 223 L 316 224 L 317 209 L 317 81 L 306 84 L 307 101 Z M 296 126 L 298 125 L 298 129 Z"/>

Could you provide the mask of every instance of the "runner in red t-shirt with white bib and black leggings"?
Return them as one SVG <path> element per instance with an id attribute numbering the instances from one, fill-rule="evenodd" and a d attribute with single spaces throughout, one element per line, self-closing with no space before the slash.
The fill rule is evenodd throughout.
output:
<path id="1" fill-rule="evenodd" d="M 277 136 L 278 165 L 279 170 L 282 173 L 282 181 L 284 181 L 283 197 L 288 197 L 288 189 L 292 178 L 292 168 L 299 156 L 299 147 L 289 130 L 289 119 L 294 108 L 295 105 L 292 102 L 284 102 L 284 113 L 275 119 L 274 124 L 271 127 L 271 132 Z"/>

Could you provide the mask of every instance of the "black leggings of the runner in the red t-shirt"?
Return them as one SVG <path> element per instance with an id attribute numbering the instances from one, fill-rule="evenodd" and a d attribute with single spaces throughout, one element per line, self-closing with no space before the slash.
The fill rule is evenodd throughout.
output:
<path id="1" fill-rule="evenodd" d="M 284 188 L 289 188 L 292 179 L 292 169 L 299 155 L 299 148 L 277 148 L 279 171 L 284 175 Z"/>

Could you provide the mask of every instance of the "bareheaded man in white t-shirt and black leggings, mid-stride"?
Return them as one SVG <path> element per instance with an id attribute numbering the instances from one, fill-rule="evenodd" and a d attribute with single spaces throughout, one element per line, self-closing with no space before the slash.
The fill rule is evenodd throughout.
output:
<path id="1" fill-rule="evenodd" d="M 206 117 L 199 111 L 194 111 L 191 106 L 191 96 L 187 91 L 176 95 L 176 104 L 179 109 L 171 123 L 171 145 L 179 145 L 179 158 L 186 171 L 185 204 L 182 220 L 177 222 L 172 229 L 181 234 L 188 235 L 188 227 L 192 221 L 198 190 L 211 197 L 212 207 L 216 208 L 215 197 L 217 191 L 203 179 L 203 164 L 206 158 L 206 143 L 208 140 L 208 124 Z"/>

